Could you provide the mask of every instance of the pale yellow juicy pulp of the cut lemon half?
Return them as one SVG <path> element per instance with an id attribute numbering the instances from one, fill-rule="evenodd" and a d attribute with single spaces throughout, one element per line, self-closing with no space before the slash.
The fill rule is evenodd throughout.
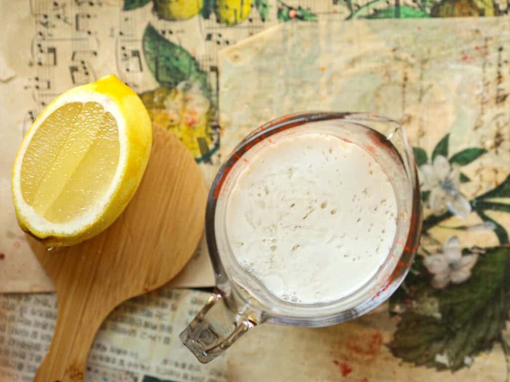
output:
<path id="1" fill-rule="evenodd" d="M 70 102 L 35 132 L 21 165 L 21 195 L 48 222 L 93 209 L 118 167 L 117 122 L 97 102 Z"/>

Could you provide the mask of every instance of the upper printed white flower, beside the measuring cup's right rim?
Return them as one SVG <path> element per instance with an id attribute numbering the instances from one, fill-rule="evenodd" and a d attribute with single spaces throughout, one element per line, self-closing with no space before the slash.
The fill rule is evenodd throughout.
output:
<path id="1" fill-rule="evenodd" d="M 461 181 L 458 165 L 450 165 L 443 155 L 434 158 L 431 165 L 420 167 L 422 191 L 430 191 L 428 206 L 435 215 L 450 210 L 455 216 L 464 218 L 471 212 L 469 201 L 459 192 Z"/>

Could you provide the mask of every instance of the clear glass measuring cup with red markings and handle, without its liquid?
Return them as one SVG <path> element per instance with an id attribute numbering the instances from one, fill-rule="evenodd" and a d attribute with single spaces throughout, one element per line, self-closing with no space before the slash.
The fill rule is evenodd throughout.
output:
<path id="1" fill-rule="evenodd" d="M 390 179 L 397 202 L 391 251 L 375 275 L 352 293 L 329 303 L 284 301 L 246 271 L 234 257 L 225 228 L 227 201 L 250 158 L 274 139 L 323 133 L 368 151 Z M 270 121 L 252 131 L 226 159 L 211 187 L 206 236 L 216 288 L 206 306 L 181 333 L 181 341 L 208 363 L 257 324 L 327 326 L 359 317 L 384 302 L 402 283 L 414 258 L 422 222 L 413 150 L 395 121 L 361 113 L 303 113 Z"/>

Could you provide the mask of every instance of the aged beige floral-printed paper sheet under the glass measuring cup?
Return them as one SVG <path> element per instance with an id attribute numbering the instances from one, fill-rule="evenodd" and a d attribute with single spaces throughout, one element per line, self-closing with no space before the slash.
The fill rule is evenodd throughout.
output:
<path id="1" fill-rule="evenodd" d="M 441 171 L 456 176 L 448 178 L 452 192 L 470 209 L 434 210 L 440 203 L 431 193 L 447 187 L 445 179 L 425 190 L 421 247 L 386 311 L 317 331 L 262 325 L 235 345 L 232 378 L 510 376 L 509 26 L 494 19 L 405 20 L 398 29 L 389 21 L 288 23 L 220 52 L 223 154 L 253 126 L 284 114 L 375 112 L 405 128 L 424 190 L 423 173 L 439 171 L 443 158 Z M 443 249 L 445 242 L 457 247 Z M 462 266 L 427 265 L 452 251 Z M 253 358 L 265 367 L 253 369 Z"/>

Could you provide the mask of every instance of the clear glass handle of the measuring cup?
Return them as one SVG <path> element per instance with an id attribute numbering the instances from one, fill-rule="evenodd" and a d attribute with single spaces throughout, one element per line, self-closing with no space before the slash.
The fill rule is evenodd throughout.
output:
<path id="1" fill-rule="evenodd" d="M 257 322 L 248 318 L 248 306 L 238 307 L 234 301 L 215 289 L 208 302 L 179 335 L 181 342 L 203 364 L 211 362 L 230 347 Z"/>

